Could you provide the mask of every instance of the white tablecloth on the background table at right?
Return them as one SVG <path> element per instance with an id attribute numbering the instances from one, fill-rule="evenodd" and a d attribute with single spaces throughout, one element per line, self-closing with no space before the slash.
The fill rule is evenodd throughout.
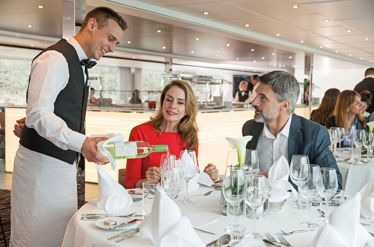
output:
<path id="1" fill-rule="evenodd" d="M 335 157 L 336 160 L 343 160 L 344 158 L 351 157 L 351 154 L 346 153 L 345 151 L 334 152 L 334 155 L 342 157 Z M 343 190 L 346 195 L 354 196 L 362 187 L 364 187 L 365 184 L 374 179 L 374 158 L 370 158 L 369 162 L 370 164 L 358 165 L 349 162 L 337 162 L 338 168 L 343 177 Z"/>

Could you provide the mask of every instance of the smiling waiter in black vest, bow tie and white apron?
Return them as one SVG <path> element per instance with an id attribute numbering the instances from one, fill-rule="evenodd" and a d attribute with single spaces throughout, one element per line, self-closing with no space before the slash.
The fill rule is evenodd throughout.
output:
<path id="1" fill-rule="evenodd" d="M 106 138 L 81 134 L 88 69 L 113 52 L 127 24 L 113 9 L 96 7 L 68 41 L 61 39 L 31 65 L 27 111 L 14 159 L 10 246 L 60 247 L 77 210 L 76 157 L 106 164 L 96 150 Z"/>

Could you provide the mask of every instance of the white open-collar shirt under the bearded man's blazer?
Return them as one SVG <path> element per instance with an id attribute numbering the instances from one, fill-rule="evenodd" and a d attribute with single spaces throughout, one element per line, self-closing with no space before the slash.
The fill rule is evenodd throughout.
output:
<path id="1" fill-rule="evenodd" d="M 260 172 L 268 172 L 270 167 L 283 155 L 288 160 L 288 135 L 292 114 L 282 131 L 275 137 L 264 123 L 261 137 L 258 139 L 257 153 L 260 162 Z"/>

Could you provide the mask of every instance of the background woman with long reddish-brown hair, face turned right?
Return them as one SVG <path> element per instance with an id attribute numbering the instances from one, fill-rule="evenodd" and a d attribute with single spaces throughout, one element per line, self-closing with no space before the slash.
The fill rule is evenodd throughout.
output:
<path id="1" fill-rule="evenodd" d="M 366 120 L 362 116 L 363 108 L 361 96 L 356 91 L 344 90 L 339 94 L 334 112 L 326 119 L 326 128 L 339 127 L 349 131 L 354 126 L 355 129 L 369 131 Z M 346 139 L 343 140 L 341 147 L 349 147 Z"/>

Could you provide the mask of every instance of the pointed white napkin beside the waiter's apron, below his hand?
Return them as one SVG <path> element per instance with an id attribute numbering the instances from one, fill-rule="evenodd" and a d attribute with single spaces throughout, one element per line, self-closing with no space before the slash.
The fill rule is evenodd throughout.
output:
<path id="1" fill-rule="evenodd" d="M 129 193 L 113 177 L 96 164 L 98 172 L 99 197 L 97 206 L 107 213 L 123 209 L 132 205 L 132 198 Z"/>

